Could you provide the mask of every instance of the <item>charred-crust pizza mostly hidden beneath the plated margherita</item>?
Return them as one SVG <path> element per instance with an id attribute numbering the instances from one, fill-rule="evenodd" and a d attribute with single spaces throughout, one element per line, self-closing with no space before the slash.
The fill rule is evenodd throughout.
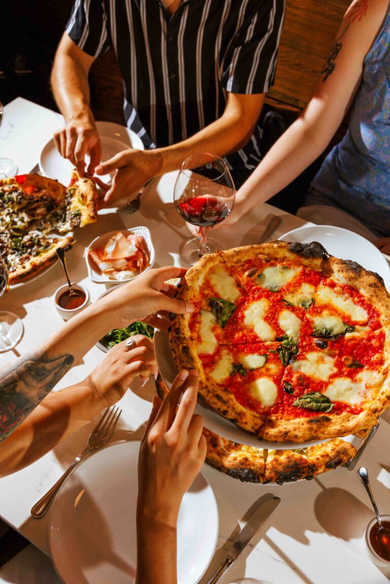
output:
<path id="1" fill-rule="evenodd" d="M 157 393 L 164 399 L 168 390 L 160 376 Z M 237 444 L 203 428 L 206 463 L 243 482 L 268 483 L 311 480 L 346 463 L 356 454 L 353 444 L 333 438 L 322 444 L 294 450 L 269 450 Z"/>

